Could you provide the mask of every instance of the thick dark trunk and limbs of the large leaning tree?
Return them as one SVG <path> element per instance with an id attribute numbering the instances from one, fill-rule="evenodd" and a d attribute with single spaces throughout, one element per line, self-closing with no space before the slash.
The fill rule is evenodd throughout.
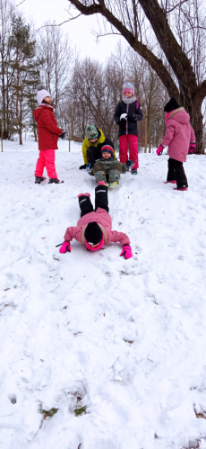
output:
<path id="1" fill-rule="evenodd" d="M 204 153 L 203 148 L 203 126 L 202 126 L 202 101 L 206 96 L 206 80 L 198 85 L 197 76 L 193 71 L 193 63 L 184 46 L 181 47 L 176 40 L 175 33 L 169 25 L 168 16 L 163 6 L 160 6 L 158 0 L 139 0 L 142 10 L 145 13 L 150 26 L 154 31 L 159 42 L 160 49 L 164 52 L 165 57 L 172 67 L 176 76 L 176 82 L 170 74 L 170 70 L 148 47 L 143 44 L 137 35 L 137 14 L 136 4 L 133 4 L 133 16 L 129 13 L 125 14 L 124 4 L 129 3 L 124 0 L 119 1 L 121 8 L 116 11 L 113 8 L 113 2 L 99 0 L 89 2 L 87 0 L 68 0 L 84 15 L 93 15 L 100 13 L 124 39 L 129 43 L 131 48 L 144 58 L 150 67 L 157 73 L 162 83 L 167 88 L 170 97 L 175 97 L 176 101 L 184 106 L 190 114 L 191 124 L 193 126 L 195 137 L 197 140 L 197 154 Z M 115 4 L 116 2 L 114 2 Z"/>

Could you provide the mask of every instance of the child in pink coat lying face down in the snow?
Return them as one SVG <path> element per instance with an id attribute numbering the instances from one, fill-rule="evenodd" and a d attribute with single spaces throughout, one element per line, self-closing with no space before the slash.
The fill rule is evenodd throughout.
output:
<path id="1" fill-rule="evenodd" d="M 120 242 L 123 246 L 120 256 L 124 256 L 125 259 L 133 257 L 130 239 L 123 232 L 112 230 L 112 220 L 108 214 L 107 185 L 100 181 L 95 189 L 95 211 L 90 202 L 90 193 L 81 193 L 78 198 L 81 219 L 76 227 L 66 229 L 64 243 L 59 252 L 71 252 L 70 242 L 75 238 L 90 251 L 97 251 L 104 243 Z"/>

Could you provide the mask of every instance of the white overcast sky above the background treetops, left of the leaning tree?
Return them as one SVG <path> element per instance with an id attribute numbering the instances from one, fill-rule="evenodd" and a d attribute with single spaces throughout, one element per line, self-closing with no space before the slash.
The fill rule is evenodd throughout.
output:
<path id="1" fill-rule="evenodd" d="M 15 0 L 16 4 L 19 4 L 20 1 Z M 68 9 L 68 4 L 67 0 L 25 0 L 19 7 L 26 18 L 33 18 L 38 29 L 48 19 L 56 21 L 56 23 L 68 19 L 69 14 L 65 11 Z M 77 15 L 78 12 L 73 10 L 73 14 Z M 100 62 L 104 62 L 110 53 L 115 51 L 118 40 L 124 41 L 118 36 L 107 36 L 101 38 L 97 44 L 96 38 L 91 32 L 92 29 L 98 30 L 95 16 L 81 16 L 72 22 L 64 23 L 62 28 L 68 32 L 72 46 L 81 50 L 82 58 L 90 56 L 90 58 L 99 59 Z"/>

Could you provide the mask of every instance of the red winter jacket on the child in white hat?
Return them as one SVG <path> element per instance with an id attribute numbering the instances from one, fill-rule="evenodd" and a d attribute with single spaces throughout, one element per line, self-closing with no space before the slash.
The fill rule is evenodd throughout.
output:
<path id="1" fill-rule="evenodd" d="M 40 105 L 33 112 L 33 117 L 38 124 L 39 150 L 58 149 L 58 136 L 62 134 L 62 130 L 56 125 L 54 109 L 49 106 Z"/>

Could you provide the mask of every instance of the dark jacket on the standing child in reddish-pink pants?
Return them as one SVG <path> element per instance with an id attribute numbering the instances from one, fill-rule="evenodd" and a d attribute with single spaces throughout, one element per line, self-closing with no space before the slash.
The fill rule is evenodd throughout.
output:
<path id="1" fill-rule="evenodd" d="M 128 117 L 127 120 L 120 121 L 122 113 L 131 113 L 133 114 L 133 118 Z M 137 121 L 142 121 L 143 118 L 140 103 L 137 101 L 128 104 L 123 101 L 118 103 L 114 117 L 116 124 L 119 125 L 119 137 L 124 136 L 125 134 L 138 136 Z"/>

